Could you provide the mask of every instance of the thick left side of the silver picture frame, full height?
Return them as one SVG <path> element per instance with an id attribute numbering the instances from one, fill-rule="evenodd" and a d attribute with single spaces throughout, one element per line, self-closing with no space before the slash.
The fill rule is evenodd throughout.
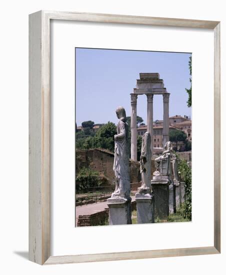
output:
<path id="1" fill-rule="evenodd" d="M 29 14 L 29 260 L 50 256 L 49 19 Z"/>

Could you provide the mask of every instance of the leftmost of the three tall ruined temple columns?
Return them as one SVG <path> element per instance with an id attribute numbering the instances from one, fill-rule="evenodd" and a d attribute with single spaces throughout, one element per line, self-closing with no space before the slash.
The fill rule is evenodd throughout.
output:
<path id="1" fill-rule="evenodd" d="M 136 99 L 137 94 L 130 93 L 131 95 L 131 159 L 137 160 L 137 128 L 136 128 Z"/>

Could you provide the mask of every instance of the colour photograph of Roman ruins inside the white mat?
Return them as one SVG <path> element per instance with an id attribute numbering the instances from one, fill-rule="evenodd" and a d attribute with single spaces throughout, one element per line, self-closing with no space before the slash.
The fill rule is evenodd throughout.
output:
<path id="1" fill-rule="evenodd" d="M 75 226 L 191 221 L 191 53 L 75 48 Z"/>

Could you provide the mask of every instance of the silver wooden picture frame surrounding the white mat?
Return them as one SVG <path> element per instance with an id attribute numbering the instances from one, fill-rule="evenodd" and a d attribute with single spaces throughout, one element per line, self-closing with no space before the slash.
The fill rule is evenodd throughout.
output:
<path id="1" fill-rule="evenodd" d="M 214 31 L 214 245 L 82 255 L 50 255 L 50 20 L 206 28 Z M 29 15 L 29 260 L 39 264 L 220 253 L 220 22 L 45 11 Z"/>

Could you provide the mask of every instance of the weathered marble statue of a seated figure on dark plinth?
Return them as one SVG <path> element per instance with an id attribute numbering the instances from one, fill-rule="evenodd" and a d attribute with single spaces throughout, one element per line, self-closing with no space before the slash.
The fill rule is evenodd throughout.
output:
<path id="1" fill-rule="evenodd" d="M 171 175 L 170 168 L 170 152 L 171 152 L 171 143 L 166 141 L 164 144 L 163 152 L 160 156 L 154 159 L 155 171 L 153 175 Z"/>

